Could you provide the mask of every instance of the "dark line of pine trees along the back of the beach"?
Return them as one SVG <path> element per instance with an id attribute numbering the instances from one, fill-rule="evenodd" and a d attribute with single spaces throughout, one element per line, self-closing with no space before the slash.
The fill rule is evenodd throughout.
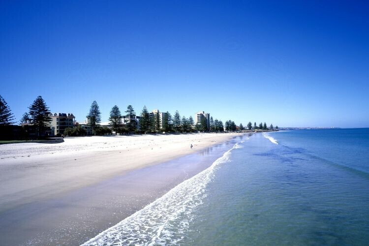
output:
<path id="1" fill-rule="evenodd" d="M 28 107 L 29 112 L 23 114 L 21 123 L 23 124 L 24 132 L 33 132 L 36 137 L 46 135 L 45 132 L 50 126 L 51 118 L 50 110 L 41 96 L 38 96 L 33 103 Z M 6 101 L 0 95 L 0 126 L 9 126 L 14 124 L 14 116 L 11 113 Z M 96 101 L 92 102 L 90 111 L 87 115 L 87 125 L 91 127 L 91 132 L 94 135 L 112 134 L 112 132 L 120 134 L 129 133 L 188 133 L 188 132 L 223 132 L 238 131 L 238 130 L 273 130 L 273 124 L 267 127 L 266 123 L 256 122 L 252 125 L 247 123 L 246 128 L 242 123 L 237 126 L 234 121 L 228 120 L 223 125 L 223 122 L 218 119 L 206 119 L 201 117 L 200 122 L 195 123 L 192 116 L 188 118 L 180 115 L 178 110 L 174 114 L 167 112 L 149 112 L 146 106 L 137 115 L 131 105 L 127 106 L 124 114 L 121 113 L 119 107 L 114 105 L 110 111 L 109 123 L 111 127 L 100 126 L 101 112 Z M 4 127 L 3 127 L 4 128 Z M 26 129 L 27 128 L 27 129 Z M 64 135 L 67 136 L 84 136 L 89 132 L 85 127 L 76 125 L 66 128 Z"/>

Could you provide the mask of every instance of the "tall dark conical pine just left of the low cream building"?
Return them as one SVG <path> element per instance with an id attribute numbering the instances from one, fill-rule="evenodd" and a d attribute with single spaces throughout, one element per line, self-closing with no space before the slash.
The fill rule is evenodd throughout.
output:
<path id="1" fill-rule="evenodd" d="M 50 110 L 40 95 L 37 96 L 28 108 L 30 109 L 31 121 L 37 130 L 36 134 L 37 136 L 40 136 L 44 133 L 46 127 L 48 127 L 51 122 L 51 118 L 49 117 Z"/>

